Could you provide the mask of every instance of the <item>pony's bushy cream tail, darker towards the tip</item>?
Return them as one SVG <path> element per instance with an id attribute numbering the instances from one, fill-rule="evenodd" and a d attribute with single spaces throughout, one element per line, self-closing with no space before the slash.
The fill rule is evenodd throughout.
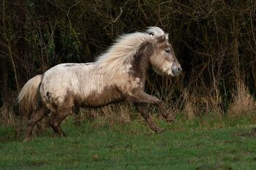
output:
<path id="1" fill-rule="evenodd" d="M 40 83 L 42 82 L 42 74 L 39 74 L 23 86 L 20 90 L 20 94 L 18 95 L 18 103 L 20 111 L 23 112 L 26 116 L 31 115 L 31 112 L 37 107 L 38 103 L 38 88 Z"/>

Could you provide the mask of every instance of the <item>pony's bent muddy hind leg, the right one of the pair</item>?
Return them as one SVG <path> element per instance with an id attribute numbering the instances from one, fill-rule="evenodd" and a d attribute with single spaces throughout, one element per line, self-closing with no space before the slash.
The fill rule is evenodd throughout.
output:
<path id="1" fill-rule="evenodd" d="M 59 136 L 66 136 L 64 131 L 61 129 L 61 122 L 67 117 L 67 112 L 55 112 L 53 116 L 50 118 L 50 126 L 53 128 Z"/>

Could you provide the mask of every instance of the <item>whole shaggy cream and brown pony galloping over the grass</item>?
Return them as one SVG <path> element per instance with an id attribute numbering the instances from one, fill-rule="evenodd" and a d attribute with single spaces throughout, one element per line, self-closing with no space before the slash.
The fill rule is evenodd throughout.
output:
<path id="1" fill-rule="evenodd" d="M 34 125 L 50 112 L 50 126 L 65 136 L 60 124 L 72 109 L 117 101 L 134 104 L 150 128 L 162 132 L 148 115 L 146 104 L 156 104 L 167 121 L 174 117 L 159 98 L 144 91 L 151 66 L 159 74 L 176 76 L 181 72 L 168 34 L 158 27 L 120 36 L 94 63 L 61 63 L 31 78 L 18 96 L 20 110 L 29 113 L 25 140 L 31 139 Z"/>

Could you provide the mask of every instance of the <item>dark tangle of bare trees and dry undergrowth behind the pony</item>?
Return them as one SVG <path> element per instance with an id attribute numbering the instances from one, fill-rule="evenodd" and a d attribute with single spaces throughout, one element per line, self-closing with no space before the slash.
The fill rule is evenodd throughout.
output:
<path id="1" fill-rule="evenodd" d="M 147 26 L 170 34 L 183 68 L 178 77 L 153 71 L 148 77 L 147 92 L 165 101 L 170 112 L 182 112 L 187 120 L 255 113 L 255 11 L 254 0 L 3 0 L 0 123 L 13 125 L 22 117 L 15 98 L 31 77 L 59 63 L 92 62 L 119 35 Z M 131 109 L 110 106 L 88 114 L 124 111 Z"/>

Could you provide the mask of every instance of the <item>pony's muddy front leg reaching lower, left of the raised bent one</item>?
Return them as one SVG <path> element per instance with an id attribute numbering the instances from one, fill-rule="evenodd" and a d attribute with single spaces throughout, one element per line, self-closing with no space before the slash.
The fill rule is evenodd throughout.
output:
<path id="1" fill-rule="evenodd" d="M 160 134 L 162 131 L 164 131 L 163 128 L 159 128 L 156 123 L 154 123 L 153 120 L 151 120 L 151 117 L 148 115 L 146 105 L 142 103 L 135 103 L 135 107 L 140 112 L 140 115 L 144 117 L 144 119 L 147 121 L 149 127 L 152 129 L 152 131 L 156 132 L 157 134 Z"/>

